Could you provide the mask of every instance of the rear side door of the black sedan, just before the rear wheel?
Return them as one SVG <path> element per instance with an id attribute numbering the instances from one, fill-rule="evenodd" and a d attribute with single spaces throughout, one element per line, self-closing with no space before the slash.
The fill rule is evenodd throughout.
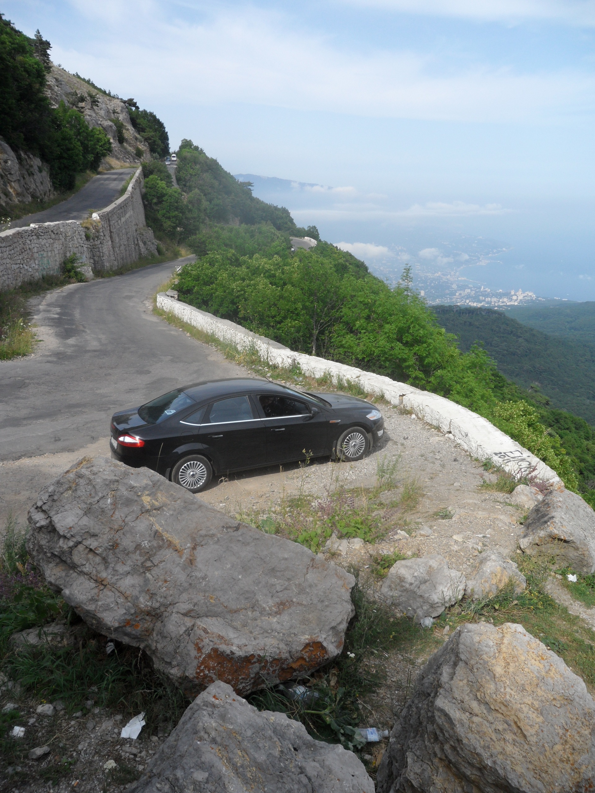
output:
<path id="1" fill-rule="evenodd" d="M 221 472 L 266 462 L 263 420 L 245 394 L 209 404 L 198 437 L 212 452 Z"/>

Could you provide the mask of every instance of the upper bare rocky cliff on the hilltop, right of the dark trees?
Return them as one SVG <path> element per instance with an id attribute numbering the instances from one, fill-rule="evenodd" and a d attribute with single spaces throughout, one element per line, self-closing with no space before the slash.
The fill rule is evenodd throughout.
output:
<path id="1" fill-rule="evenodd" d="M 48 74 L 46 93 L 52 107 L 57 107 L 60 102 L 76 107 L 81 110 L 90 127 L 102 127 L 109 135 L 112 140 L 112 152 L 102 161 L 102 168 L 138 165 L 141 159 L 150 159 L 148 145 L 134 131 L 128 109 L 121 99 L 102 94 L 84 80 L 58 66 L 52 66 L 52 71 Z M 114 119 L 121 121 L 123 125 L 125 138 L 123 144 L 118 143 Z M 135 154 L 137 147 L 143 151 L 140 157 Z"/>

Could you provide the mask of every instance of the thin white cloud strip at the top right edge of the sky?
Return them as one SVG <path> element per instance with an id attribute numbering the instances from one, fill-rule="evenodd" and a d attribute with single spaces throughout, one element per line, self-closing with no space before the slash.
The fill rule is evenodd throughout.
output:
<path id="1" fill-rule="evenodd" d="M 459 17 L 475 21 L 563 21 L 594 25 L 593 0 L 344 0 L 347 5 L 397 13 Z"/>

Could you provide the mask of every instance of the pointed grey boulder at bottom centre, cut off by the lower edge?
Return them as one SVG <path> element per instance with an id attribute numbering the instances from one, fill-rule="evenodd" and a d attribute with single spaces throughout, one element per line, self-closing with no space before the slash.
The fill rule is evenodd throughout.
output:
<path id="1" fill-rule="evenodd" d="M 213 683 L 183 714 L 129 793 L 374 793 L 363 764 L 285 714 Z"/>

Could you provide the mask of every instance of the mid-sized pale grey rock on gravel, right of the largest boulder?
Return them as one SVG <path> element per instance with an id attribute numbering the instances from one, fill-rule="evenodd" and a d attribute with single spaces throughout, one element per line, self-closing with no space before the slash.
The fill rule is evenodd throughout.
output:
<path id="1" fill-rule="evenodd" d="M 395 562 L 380 594 L 419 623 L 424 617 L 440 616 L 445 608 L 461 600 L 465 584 L 463 573 L 451 570 L 439 554 L 431 554 Z"/>

